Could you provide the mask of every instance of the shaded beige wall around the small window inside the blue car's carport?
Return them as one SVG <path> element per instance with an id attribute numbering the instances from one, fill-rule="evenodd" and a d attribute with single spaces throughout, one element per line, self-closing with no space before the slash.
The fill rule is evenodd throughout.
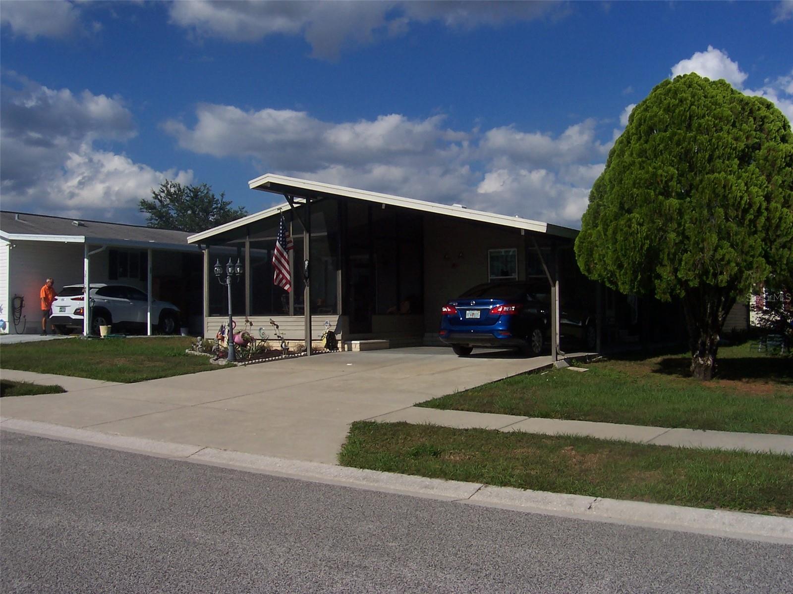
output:
<path id="1" fill-rule="evenodd" d="M 488 282 L 488 249 L 517 249 L 518 280 L 525 278 L 524 240 L 518 229 L 431 215 L 424 219 L 423 323 L 427 340 L 437 339 L 444 303 Z"/>

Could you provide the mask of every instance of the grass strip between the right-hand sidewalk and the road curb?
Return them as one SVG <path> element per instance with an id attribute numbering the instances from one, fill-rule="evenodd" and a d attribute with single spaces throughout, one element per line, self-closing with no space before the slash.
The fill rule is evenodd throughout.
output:
<path id="1" fill-rule="evenodd" d="M 339 462 L 554 493 L 793 516 L 793 456 L 787 455 L 358 421 Z"/>

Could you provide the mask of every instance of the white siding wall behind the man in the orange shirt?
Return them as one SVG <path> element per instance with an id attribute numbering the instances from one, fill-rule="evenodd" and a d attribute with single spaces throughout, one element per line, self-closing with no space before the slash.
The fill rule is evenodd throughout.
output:
<path id="1" fill-rule="evenodd" d="M 56 291 L 65 284 L 82 283 L 82 243 L 12 242 L 8 265 L 8 299 L 25 298 L 19 333 L 41 332 L 39 293 L 44 281 L 52 276 Z M 11 316 L 9 316 L 10 319 Z M 9 332 L 17 333 L 13 321 Z"/>

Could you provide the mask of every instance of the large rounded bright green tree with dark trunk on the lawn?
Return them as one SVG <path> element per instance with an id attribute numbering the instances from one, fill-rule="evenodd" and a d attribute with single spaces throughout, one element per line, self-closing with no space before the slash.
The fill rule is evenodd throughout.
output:
<path id="1" fill-rule="evenodd" d="M 793 133 L 779 109 L 684 74 L 630 114 L 576 240 L 585 274 L 680 298 L 691 373 L 711 379 L 737 295 L 793 267 Z"/>

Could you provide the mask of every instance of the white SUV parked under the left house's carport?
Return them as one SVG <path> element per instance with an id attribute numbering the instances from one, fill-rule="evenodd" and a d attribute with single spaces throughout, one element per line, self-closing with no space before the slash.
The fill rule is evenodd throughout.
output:
<path id="1" fill-rule="evenodd" d="M 63 287 L 52 302 L 50 323 L 61 334 L 82 330 L 85 290 L 82 284 Z M 99 326 L 146 328 L 147 295 L 125 284 L 91 283 L 91 333 Z M 179 327 L 179 308 L 167 301 L 151 300 L 151 324 L 163 334 L 173 334 Z"/>

